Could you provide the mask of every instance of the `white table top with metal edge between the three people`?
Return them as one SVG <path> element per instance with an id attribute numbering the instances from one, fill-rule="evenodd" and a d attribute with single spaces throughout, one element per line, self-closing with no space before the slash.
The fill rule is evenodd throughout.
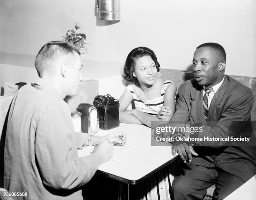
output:
<path id="1" fill-rule="evenodd" d="M 124 147 L 114 148 L 114 160 L 102 163 L 98 170 L 108 177 L 116 180 L 136 184 L 143 177 L 150 175 L 154 170 L 163 167 L 167 162 L 172 162 L 172 146 L 151 146 L 151 129 L 136 124 L 123 124 L 108 131 L 100 130 L 97 134 L 107 134 L 124 131 L 127 142 Z M 155 142 L 156 144 L 157 142 Z M 164 144 L 161 142 L 161 144 Z M 85 147 L 78 151 L 78 156 L 83 157 L 92 152 L 93 147 Z M 118 156 L 119 154 L 119 156 Z"/>

